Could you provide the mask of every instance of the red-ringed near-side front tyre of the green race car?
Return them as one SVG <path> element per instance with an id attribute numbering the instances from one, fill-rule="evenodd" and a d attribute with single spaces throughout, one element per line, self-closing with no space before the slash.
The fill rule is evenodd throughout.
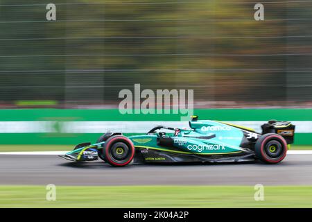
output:
<path id="1" fill-rule="evenodd" d="M 124 167 L 135 155 L 135 146 L 127 137 L 116 135 L 105 142 L 103 148 L 105 160 L 114 167 Z"/>

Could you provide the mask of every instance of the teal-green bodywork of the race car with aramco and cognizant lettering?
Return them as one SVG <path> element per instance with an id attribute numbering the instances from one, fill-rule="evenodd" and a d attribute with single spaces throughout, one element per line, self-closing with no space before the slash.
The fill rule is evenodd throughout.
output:
<path id="1" fill-rule="evenodd" d="M 242 153 L 241 142 L 244 132 L 254 133 L 254 130 L 238 128 L 228 123 L 219 121 L 190 121 L 189 129 L 179 129 L 179 133 L 174 134 L 173 130 L 159 130 L 158 133 L 146 135 L 135 135 L 128 137 L 135 148 L 164 151 L 170 153 L 196 154 L 196 155 L 223 155 L 232 153 Z M 162 146 L 157 143 L 159 132 L 166 133 L 166 137 L 173 139 L 173 146 Z M 254 133 L 257 134 L 257 133 Z M 259 134 L 257 134 L 259 135 Z M 204 138 L 202 138 L 204 137 Z M 209 137 L 209 139 L 207 139 Z M 101 149 L 105 142 L 92 144 L 73 150 L 68 155 L 75 155 L 77 160 L 83 155 L 87 148 Z"/>

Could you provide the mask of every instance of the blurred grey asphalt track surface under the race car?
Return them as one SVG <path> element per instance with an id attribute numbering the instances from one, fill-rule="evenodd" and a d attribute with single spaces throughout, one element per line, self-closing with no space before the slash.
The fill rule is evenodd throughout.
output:
<path id="1" fill-rule="evenodd" d="M 132 164 L 116 168 L 57 155 L 0 155 L 0 185 L 312 185 L 312 155 L 280 164 Z"/>

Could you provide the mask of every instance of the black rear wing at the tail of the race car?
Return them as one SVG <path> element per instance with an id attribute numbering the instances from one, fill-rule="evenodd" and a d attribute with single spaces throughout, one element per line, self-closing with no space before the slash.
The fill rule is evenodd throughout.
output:
<path id="1" fill-rule="evenodd" d="M 293 144 L 295 136 L 295 125 L 288 121 L 270 120 L 262 126 L 262 134 L 277 133 L 286 140 L 287 144 Z"/>

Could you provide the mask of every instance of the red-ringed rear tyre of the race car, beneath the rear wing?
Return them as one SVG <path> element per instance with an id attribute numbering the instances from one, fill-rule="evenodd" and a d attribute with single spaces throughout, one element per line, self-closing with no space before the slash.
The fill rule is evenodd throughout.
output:
<path id="1" fill-rule="evenodd" d="M 262 162 L 277 164 L 284 160 L 287 153 L 286 140 L 275 133 L 262 135 L 254 146 L 256 156 Z"/>

